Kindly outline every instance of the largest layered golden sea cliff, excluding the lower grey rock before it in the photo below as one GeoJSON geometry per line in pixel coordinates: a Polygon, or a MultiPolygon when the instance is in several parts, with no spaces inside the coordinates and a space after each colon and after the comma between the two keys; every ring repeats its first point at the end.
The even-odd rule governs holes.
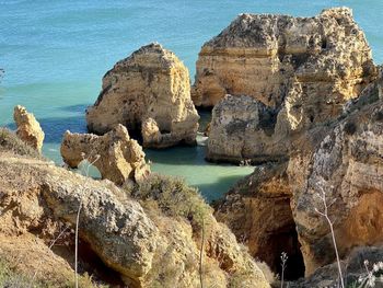
{"type": "Polygon", "coordinates": [[[251,95],[271,107],[286,101],[298,123],[324,120],[374,76],[350,9],[314,18],[241,14],[202,46],[193,100],[213,106],[225,94],[251,95]]]}

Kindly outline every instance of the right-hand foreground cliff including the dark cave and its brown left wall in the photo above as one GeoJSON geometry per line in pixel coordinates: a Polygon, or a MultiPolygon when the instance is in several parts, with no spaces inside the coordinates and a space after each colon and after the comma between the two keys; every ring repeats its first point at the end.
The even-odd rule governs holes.
{"type": "Polygon", "coordinates": [[[334,262],[328,223],[315,210],[324,209],[317,197],[323,192],[332,204],[328,216],[341,257],[353,247],[382,243],[380,81],[347,104],[338,118],[294,139],[287,162],[257,168],[218,205],[217,219],[228,223],[254,256],[272,267],[278,249],[299,257],[300,247],[306,276],[334,262]]]}

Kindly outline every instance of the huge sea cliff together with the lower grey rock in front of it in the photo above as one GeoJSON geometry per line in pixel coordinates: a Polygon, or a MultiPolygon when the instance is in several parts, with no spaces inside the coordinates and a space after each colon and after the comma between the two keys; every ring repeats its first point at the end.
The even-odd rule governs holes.
{"type": "Polygon", "coordinates": [[[315,18],[240,15],[197,62],[194,101],[214,105],[207,158],[279,159],[303,131],[337,118],[376,74],[347,8],[315,18]]]}

